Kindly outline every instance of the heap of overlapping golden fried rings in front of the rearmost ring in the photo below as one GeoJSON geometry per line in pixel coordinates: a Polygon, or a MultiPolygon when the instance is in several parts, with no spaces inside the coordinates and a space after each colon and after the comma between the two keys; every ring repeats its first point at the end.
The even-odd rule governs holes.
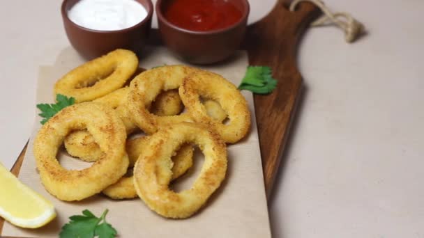
{"type": "Polygon", "coordinates": [[[61,200],[81,200],[100,191],[116,199],[139,196],[162,216],[184,218],[196,212],[224,179],[227,168],[225,142],[236,143],[248,133],[249,127],[247,103],[226,79],[187,66],[163,66],[142,72],[131,81],[129,88],[60,111],[40,129],[34,154],[44,186],[61,200]],[[176,97],[176,90],[179,97],[176,97]],[[164,99],[160,100],[161,97],[164,99]],[[177,115],[182,110],[178,106],[181,101],[176,102],[180,97],[186,112],[177,115]],[[225,125],[222,121],[227,117],[229,123],[225,125]],[[126,141],[126,135],[137,127],[152,135],[126,141]],[[116,136],[120,138],[116,140],[120,141],[119,146],[113,139],[116,136]],[[63,140],[70,154],[95,161],[93,166],[79,171],[62,168],[54,158],[63,140]],[[191,195],[174,193],[167,190],[169,182],[192,166],[190,143],[199,145],[205,154],[202,175],[190,189],[191,195]],[[121,154],[121,161],[116,159],[114,152],[121,154]],[[114,171],[114,176],[106,175],[109,170],[103,168],[104,164],[110,164],[109,170],[114,171]],[[132,178],[127,169],[133,165],[132,178]],[[149,166],[156,169],[149,169],[153,168],[149,166]],[[77,177],[91,177],[91,185],[78,192],[78,184],[86,184],[77,177]],[[100,177],[101,183],[97,182],[100,177]],[[63,189],[68,180],[74,187],[63,189]],[[153,180],[156,182],[152,184],[153,180]],[[152,199],[159,193],[167,196],[159,201],[152,199]],[[170,203],[169,196],[176,196],[185,206],[170,203]]]}

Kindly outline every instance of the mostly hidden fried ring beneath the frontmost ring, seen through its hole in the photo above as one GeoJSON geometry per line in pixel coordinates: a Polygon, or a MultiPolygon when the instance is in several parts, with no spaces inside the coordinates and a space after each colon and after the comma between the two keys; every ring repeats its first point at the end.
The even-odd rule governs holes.
{"type": "MultiPolygon", "coordinates": [[[[139,158],[140,154],[149,146],[149,136],[139,137],[127,141],[126,148],[130,158],[130,166],[139,158]]],[[[174,162],[172,166],[172,178],[183,175],[193,164],[193,148],[191,145],[183,145],[171,158],[174,162]]],[[[103,194],[112,199],[137,198],[132,175],[121,177],[121,179],[103,190],[103,194]]]]}

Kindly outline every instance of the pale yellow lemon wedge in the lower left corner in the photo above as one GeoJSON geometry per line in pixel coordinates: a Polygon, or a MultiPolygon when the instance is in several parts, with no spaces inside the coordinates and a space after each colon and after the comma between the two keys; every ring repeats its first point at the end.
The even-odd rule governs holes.
{"type": "Polygon", "coordinates": [[[53,204],[22,184],[0,163],[0,216],[22,228],[39,228],[56,217],[53,204]]]}

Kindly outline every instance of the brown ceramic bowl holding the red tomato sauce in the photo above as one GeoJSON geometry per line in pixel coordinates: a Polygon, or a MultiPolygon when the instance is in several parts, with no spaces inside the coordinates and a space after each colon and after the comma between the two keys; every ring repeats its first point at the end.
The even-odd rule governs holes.
{"type": "Polygon", "coordinates": [[[232,26],[213,31],[190,31],[167,21],[163,12],[170,1],[172,0],[156,1],[159,31],[168,49],[183,61],[195,64],[216,63],[239,49],[248,22],[248,0],[229,0],[241,10],[241,19],[232,26]]]}

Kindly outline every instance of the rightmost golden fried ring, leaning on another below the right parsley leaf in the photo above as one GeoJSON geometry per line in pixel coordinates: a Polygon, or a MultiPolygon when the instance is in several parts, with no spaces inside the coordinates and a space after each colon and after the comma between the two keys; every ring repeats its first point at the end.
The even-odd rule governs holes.
{"type": "Polygon", "coordinates": [[[240,91],[234,84],[219,74],[198,71],[190,74],[179,88],[183,104],[195,122],[211,125],[227,143],[241,140],[250,129],[250,111],[240,91]],[[229,124],[213,120],[199,98],[205,97],[218,102],[228,114],[229,124]]]}

